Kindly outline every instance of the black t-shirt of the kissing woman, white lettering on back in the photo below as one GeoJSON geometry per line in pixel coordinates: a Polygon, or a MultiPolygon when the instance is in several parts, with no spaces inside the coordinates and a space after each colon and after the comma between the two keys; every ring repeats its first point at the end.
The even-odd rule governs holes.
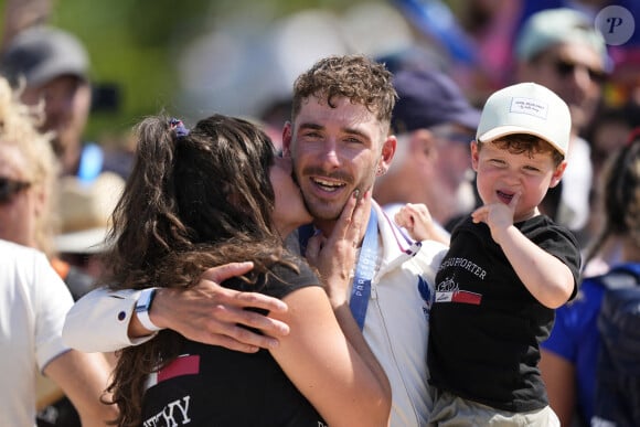
{"type": "MultiPolygon", "coordinates": [[[[299,275],[275,267],[278,278],[270,276],[259,291],[282,298],[296,289],[319,286],[306,264],[299,267],[299,275]]],[[[326,425],[266,350],[247,354],[184,340],[181,354],[149,378],[142,426],[326,425]]]]}

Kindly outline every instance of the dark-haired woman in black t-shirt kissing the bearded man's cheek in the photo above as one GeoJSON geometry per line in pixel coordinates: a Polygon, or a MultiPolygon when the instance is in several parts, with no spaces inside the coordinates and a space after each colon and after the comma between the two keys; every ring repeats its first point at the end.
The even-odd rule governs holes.
{"type": "MultiPolygon", "coordinates": [[[[222,115],[191,130],[151,117],[136,135],[136,162],[105,257],[111,274],[103,281],[118,284],[113,289],[186,288],[212,266],[249,260],[253,270],[223,286],[282,299],[288,310],[271,316],[290,333],[274,349],[242,353],[166,329],[121,350],[109,387],[117,424],[387,425],[390,384],[353,318],[340,316],[349,308],[334,312],[314,271],[285,247],[284,237],[311,216],[289,161],[276,158],[268,137],[222,115]]],[[[345,209],[342,237],[317,258],[323,282],[349,280],[362,221],[358,199],[345,209]]]]}

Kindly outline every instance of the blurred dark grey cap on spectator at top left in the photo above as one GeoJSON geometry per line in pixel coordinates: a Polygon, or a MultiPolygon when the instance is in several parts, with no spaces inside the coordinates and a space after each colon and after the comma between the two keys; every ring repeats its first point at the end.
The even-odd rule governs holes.
{"type": "Polygon", "coordinates": [[[87,79],[88,68],[88,54],[81,41],[46,25],[19,32],[0,57],[0,74],[13,86],[20,77],[24,77],[28,86],[39,86],[62,75],[87,79]]]}

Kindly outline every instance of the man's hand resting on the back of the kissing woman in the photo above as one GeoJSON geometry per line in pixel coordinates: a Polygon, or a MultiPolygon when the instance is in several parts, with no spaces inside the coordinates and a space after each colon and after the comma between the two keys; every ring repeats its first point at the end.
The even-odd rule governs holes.
{"type": "Polygon", "coordinates": [[[253,263],[226,264],[206,270],[190,289],[158,289],[151,306],[151,321],[190,340],[245,353],[277,346],[277,339],[287,335],[289,327],[245,308],[286,312],[287,305],[263,293],[239,292],[218,285],[252,268],[253,263]],[[258,329],[263,334],[241,325],[258,329]]]}

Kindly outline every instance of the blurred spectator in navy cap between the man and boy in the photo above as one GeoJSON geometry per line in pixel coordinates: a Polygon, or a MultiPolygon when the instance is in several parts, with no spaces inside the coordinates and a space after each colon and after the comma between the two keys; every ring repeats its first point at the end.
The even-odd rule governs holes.
{"type": "Polygon", "coordinates": [[[391,217],[405,203],[424,203],[444,226],[477,204],[469,143],[480,120],[456,83],[436,70],[396,72],[392,125],[394,161],[377,177],[374,199],[391,217]]]}

